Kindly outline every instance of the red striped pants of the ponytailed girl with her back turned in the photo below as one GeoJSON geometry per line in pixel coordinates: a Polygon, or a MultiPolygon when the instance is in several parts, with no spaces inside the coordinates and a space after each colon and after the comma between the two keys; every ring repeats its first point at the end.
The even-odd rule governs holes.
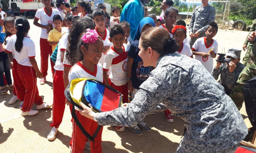
{"type": "Polygon", "coordinates": [[[27,112],[30,111],[33,103],[37,105],[43,104],[43,100],[39,96],[37,88],[37,74],[32,66],[17,64],[17,70],[19,77],[26,89],[22,111],[27,112]]]}

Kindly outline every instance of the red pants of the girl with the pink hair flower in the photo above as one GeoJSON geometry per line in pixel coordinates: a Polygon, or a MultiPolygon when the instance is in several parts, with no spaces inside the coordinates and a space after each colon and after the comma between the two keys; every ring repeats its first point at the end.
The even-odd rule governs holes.
{"type": "MultiPolygon", "coordinates": [[[[78,120],[83,125],[85,131],[87,131],[90,135],[93,135],[99,124],[94,120],[91,120],[87,117],[82,116],[79,113],[79,111],[75,110],[75,113],[78,120]]],[[[91,153],[102,153],[102,149],[101,149],[102,130],[103,130],[103,127],[100,129],[99,133],[94,139],[94,148],[93,148],[93,142],[91,141],[91,153]]],[[[73,121],[73,132],[72,132],[72,138],[70,141],[70,143],[72,143],[71,153],[83,153],[84,147],[86,144],[86,139],[87,137],[82,133],[80,128],[75,124],[75,121],[73,121]]]]}

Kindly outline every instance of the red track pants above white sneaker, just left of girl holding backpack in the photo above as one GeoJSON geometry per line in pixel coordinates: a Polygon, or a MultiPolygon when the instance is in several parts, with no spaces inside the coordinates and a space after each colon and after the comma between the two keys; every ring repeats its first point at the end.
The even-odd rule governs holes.
{"type": "Polygon", "coordinates": [[[50,126],[59,128],[62,122],[66,97],[64,94],[63,71],[56,70],[53,78],[53,118],[50,126]]]}

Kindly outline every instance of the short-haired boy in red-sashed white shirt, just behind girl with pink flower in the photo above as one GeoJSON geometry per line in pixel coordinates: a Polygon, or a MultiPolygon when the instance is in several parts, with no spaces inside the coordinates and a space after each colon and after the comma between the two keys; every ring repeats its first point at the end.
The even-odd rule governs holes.
{"type": "MultiPolygon", "coordinates": [[[[114,25],[110,31],[109,40],[113,46],[106,52],[103,64],[103,79],[105,83],[123,95],[123,103],[128,103],[127,84],[127,53],[128,49],[124,44],[125,32],[120,25],[114,25]],[[111,71],[108,76],[108,71],[111,71]]],[[[117,131],[124,131],[123,126],[116,126],[117,131]]]]}

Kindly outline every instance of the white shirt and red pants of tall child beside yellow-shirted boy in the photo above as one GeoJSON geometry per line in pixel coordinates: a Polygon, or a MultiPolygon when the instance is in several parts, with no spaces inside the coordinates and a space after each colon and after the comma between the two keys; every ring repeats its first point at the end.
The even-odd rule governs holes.
{"type": "MultiPolygon", "coordinates": [[[[47,14],[45,8],[39,8],[37,13],[35,13],[35,18],[40,19],[42,25],[53,24],[53,16],[60,15],[60,12],[57,9],[51,8],[51,14],[47,14]]],[[[62,19],[63,20],[63,19],[62,19]]],[[[41,53],[41,72],[43,73],[43,77],[46,77],[48,70],[48,57],[52,55],[52,46],[49,45],[47,30],[41,28],[41,36],[40,36],[40,53],[41,53]]],[[[54,63],[51,61],[52,73],[54,73],[54,63]]]]}

